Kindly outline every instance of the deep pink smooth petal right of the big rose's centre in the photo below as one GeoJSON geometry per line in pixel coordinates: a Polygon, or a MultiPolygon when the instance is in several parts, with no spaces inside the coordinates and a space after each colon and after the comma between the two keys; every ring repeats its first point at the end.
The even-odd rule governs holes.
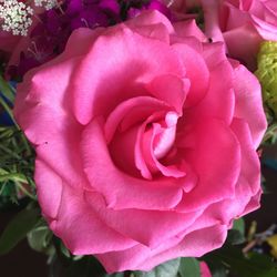
{"type": "Polygon", "coordinates": [[[177,207],[186,212],[233,197],[240,172],[240,146],[226,123],[206,117],[204,122],[199,120],[198,123],[189,124],[189,129],[185,130],[188,135],[176,138],[176,145],[184,148],[186,162],[199,177],[197,186],[184,195],[177,207]],[[194,136],[189,137],[188,132],[194,136]],[[189,142],[191,138],[195,142],[194,145],[189,142]]]}

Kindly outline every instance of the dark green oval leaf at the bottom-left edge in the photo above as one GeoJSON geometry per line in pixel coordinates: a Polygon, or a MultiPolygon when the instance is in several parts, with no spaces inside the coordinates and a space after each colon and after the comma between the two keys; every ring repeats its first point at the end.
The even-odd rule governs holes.
{"type": "Polygon", "coordinates": [[[0,255],[9,253],[40,219],[39,209],[23,209],[13,217],[0,237],[0,255]]]}

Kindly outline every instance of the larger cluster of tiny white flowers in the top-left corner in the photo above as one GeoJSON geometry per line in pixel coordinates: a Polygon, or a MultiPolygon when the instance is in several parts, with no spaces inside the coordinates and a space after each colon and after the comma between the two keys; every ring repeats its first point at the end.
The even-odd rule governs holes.
{"type": "Polygon", "coordinates": [[[17,0],[0,0],[0,28],[14,35],[27,35],[33,9],[17,0]]]}

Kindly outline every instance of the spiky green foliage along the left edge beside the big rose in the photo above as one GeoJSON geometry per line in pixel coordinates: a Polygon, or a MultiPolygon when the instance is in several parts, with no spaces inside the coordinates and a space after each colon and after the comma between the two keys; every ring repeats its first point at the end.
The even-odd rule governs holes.
{"type": "MultiPolygon", "coordinates": [[[[4,95],[0,95],[0,107],[13,120],[9,103],[14,100],[14,91],[2,76],[0,90],[4,95]]],[[[12,126],[0,125],[0,207],[9,201],[17,203],[22,196],[35,199],[33,160],[34,153],[17,123],[12,126]]]]}

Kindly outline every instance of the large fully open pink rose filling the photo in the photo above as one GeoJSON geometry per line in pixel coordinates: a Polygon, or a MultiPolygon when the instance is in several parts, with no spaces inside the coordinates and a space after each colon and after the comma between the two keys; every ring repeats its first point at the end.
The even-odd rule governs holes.
{"type": "Polygon", "coordinates": [[[259,83],[201,39],[155,11],[79,29],[18,88],[43,215],[110,273],[202,256],[259,206],[259,83]]]}

